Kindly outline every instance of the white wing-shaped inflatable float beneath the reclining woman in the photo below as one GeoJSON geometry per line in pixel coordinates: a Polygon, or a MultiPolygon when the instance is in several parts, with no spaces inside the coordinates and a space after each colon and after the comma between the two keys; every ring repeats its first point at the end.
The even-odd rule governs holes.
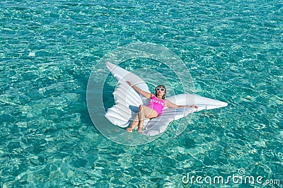
{"type": "MultiPolygon", "coordinates": [[[[139,78],[139,76],[126,71],[125,69],[116,66],[115,64],[107,63],[106,66],[110,70],[113,76],[117,78],[118,84],[114,91],[115,105],[110,107],[105,114],[105,117],[109,119],[112,124],[119,127],[128,127],[130,119],[138,111],[139,105],[147,105],[149,100],[137,93],[126,81],[131,81],[141,90],[148,93],[148,86],[139,78]]],[[[210,98],[204,98],[199,95],[193,94],[178,94],[166,98],[176,105],[197,105],[197,109],[186,108],[164,108],[161,114],[153,119],[144,120],[143,134],[146,136],[155,136],[166,131],[170,122],[176,119],[187,116],[192,112],[198,112],[200,110],[210,110],[218,107],[225,107],[228,105],[226,102],[219,100],[213,100],[210,98]]]]}

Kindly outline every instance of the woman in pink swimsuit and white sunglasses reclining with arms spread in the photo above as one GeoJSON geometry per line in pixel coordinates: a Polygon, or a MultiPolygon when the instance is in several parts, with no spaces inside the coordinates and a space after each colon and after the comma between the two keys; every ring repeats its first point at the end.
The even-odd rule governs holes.
{"type": "Polygon", "coordinates": [[[139,112],[137,113],[136,117],[134,117],[131,125],[129,128],[127,128],[128,132],[132,132],[132,130],[138,127],[137,132],[143,131],[143,125],[144,125],[144,118],[152,119],[154,117],[158,117],[158,115],[161,113],[164,107],[195,107],[196,105],[175,105],[170,100],[165,99],[166,95],[166,88],[163,85],[159,85],[155,88],[155,95],[153,93],[147,93],[144,90],[141,90],[137,86],[134,86],[131,82],[127,81],[129,86],[134,88],[138,93],[143,95],[145,98],[150,98],[149,105],[139,105],[139,112]]]}

